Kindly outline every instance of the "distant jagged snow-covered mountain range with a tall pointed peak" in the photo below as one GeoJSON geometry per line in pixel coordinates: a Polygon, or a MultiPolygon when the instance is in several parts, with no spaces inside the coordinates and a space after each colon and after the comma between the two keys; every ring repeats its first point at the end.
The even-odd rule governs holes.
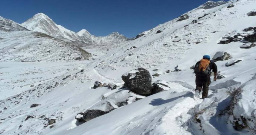
{"type": "Polygon", "coordinates": [[[104,37],[91,35],[85,29],[75,33],[61,25],[55,24],[51,18],[43,13],[35,14],[21,25],[29,30],[45,33],[58,39],[80,43],[84,42],[86,44],[104,44],[107,42],[122,42],[128,40],[128,38],[119,33],[112,33],[104,37]]]}

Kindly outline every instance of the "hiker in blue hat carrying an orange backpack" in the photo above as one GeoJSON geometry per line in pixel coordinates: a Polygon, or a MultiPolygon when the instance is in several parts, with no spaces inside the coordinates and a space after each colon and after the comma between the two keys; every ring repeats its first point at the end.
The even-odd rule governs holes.
{"type": "Polygon", "coordinates": [[[217,72],[218,72],[217,65],[213,61],[210,61],[209,55],[204,55],[203,59],[201,59],[195,64],[195,67],[194,67],[194,73],[196,74],[195,96],[199,97],[199,93],[202,91],[202,88],[203,88],[202,99],[207,98],[209,85],[211,83],[211,78],[210,78],[211,70],[214,72],[213,80],[216,81],[217,72]]]}

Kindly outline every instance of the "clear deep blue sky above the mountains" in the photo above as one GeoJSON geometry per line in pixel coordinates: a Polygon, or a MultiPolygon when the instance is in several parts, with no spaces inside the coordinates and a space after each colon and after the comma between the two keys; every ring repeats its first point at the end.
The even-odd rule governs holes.
{"type": "Polygon", "coordinates": [[[208,0],[1,0],[0,16],[23,23],[44,13],[56,24],[96,36],[119,32],[131,38],[208,0]]]}

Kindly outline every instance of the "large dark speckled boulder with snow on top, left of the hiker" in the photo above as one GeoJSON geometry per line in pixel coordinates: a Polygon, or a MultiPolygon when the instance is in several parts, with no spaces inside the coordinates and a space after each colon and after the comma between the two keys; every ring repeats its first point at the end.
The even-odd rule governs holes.
{"type": "Polygon", "coordinates": [[[134,93],[145,96],[150,95],[152,93],[152,79],[149,71],[144,68],[131,70],[123,74],[122,79],[125,82],[124,86],[128,87],[134,93]]]}

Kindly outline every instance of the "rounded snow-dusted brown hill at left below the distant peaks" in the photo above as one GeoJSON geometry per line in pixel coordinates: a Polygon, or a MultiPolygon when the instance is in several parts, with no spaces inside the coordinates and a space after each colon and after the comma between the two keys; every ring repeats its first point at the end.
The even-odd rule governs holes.
{"type": "Polygon", "coordinates": [[[85,50],[44,33],[0,33],[0,61],[76,61],[88,59],[85,50]]]}

